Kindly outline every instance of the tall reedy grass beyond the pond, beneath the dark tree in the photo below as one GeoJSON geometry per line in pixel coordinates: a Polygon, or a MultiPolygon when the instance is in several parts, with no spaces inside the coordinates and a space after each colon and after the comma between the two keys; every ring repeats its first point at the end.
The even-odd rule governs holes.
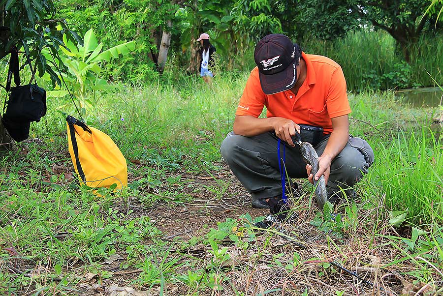
{"type": "Polygon", "coordinates": [[[329,57],[343,68],[348,89],[396,89],[435,86],[427,70],[443,81],[443,36],[422,36],[404,61],[395,40],[384,31],[352,31],[334,41],[302,44],[306,53],[329,57]]]}

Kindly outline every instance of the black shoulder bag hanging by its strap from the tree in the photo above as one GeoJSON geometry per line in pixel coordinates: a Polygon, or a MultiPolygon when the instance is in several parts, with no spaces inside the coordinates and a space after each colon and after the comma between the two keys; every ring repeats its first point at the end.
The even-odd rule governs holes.
{"type": "MultiPolygon", "coordinates": [[[[31,67],[32,82],[34,72],[28,56],[27,59],[31,67]]],[[[14,46],[11,48],[6,80],[6,92],[10,92],[4,102],[2,121],[9,135],[17,142],[28,139],[31,121],[38,122],[46,114],[46,90],[37,86],[36,82],[21,86],[19,71],[18,51],[14,46]],[[15,83],[13,88],[11,88],[12,76],[15,83]]]]}

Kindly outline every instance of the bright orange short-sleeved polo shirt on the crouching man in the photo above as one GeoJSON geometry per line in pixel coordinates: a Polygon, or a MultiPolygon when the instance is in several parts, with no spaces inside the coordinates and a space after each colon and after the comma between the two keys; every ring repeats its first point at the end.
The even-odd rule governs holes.
{"type": "Polygon", "coordinates": [[[283,117],[297,124],[323,127],[325,134],[332,132],[331,118],[351,112],[342,68],[332,59],[306,55],[307,75],[298,92],[291,90],[267,95],[258,78],[258,68],[251,71],[235,115],[260,116],[266,106],[266,116],[283,117]]]}

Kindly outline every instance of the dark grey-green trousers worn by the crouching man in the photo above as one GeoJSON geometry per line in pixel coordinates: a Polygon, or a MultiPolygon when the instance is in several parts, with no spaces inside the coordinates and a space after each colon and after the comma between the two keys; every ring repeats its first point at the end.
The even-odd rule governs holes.
{"type": "MultiPolygon", "coordinates": [[[[314,148],[320,156],[329,136],[325,136],[314,148]]],[[[285,169],[290,178],[308,178],[306,163],[296,145],[294,148],[282,141],[280,158],[278,140],[271,133],[244,137],[229,133],[221,143],[221,155],[232,173],[245,186],[253,199],[265,199],[282,194],[279,159],[283,158],[285,145],[285,169]]],[[[349,137],[348,144],[332,160],[326,185],[330,200],[342,196],[341,188],[350,196],[352,186],[368,173],[374,162],[374,152],[368,143],[360,138],[349,137]]],[[[283,168],[283,161],[282,161],[283,168]]]]}

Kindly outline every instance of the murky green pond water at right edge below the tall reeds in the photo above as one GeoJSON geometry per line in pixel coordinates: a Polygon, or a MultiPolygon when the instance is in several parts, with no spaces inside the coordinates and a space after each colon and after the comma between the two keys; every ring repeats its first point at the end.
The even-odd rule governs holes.
{"type": "Polygon", "coordinates": [[[401,89],[395,95],[402,97],[402,101],[413,107],[429,106],[437,107],[442,100],[443,91],[440,88],[401,89]]]}

